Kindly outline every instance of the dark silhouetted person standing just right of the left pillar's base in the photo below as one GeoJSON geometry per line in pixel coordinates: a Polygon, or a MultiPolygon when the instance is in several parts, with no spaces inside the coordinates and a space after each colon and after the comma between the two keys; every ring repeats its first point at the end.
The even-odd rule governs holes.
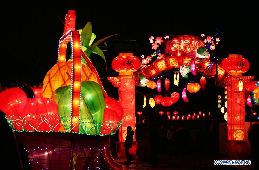
{"type": "Polygon", "coordinates": [[[158,157],[157,157],[157,147],[158,147],[158,133],[157,129],[151,125],[149,126],[150,136],[149,136],[149,143],[151,147],[151,164],[157,164],[158,163],[158,157]]]}

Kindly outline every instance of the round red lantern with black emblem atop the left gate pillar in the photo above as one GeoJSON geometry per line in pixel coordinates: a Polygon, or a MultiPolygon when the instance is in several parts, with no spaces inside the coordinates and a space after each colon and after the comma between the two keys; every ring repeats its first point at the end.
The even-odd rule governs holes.
{"type": "Polygon", "coordinates": [[[117,72],[136,71],[141,62],[136,56],[117,56],[112,61],[112,67],[117,72]]]}

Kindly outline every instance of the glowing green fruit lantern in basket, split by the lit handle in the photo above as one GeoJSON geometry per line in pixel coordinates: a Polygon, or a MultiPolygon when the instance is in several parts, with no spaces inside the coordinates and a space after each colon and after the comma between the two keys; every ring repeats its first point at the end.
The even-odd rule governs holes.
{"type": "MultiPolygon", "coordinates": [[[[71,122],[71,85],[56,89],[53,100],[58,104],[58,114],[66,131],[71,122]]],[[[102,88],[93,81],[81,85],[79,133],[98,134],[103,121],[105,100],[102,88]]]]}

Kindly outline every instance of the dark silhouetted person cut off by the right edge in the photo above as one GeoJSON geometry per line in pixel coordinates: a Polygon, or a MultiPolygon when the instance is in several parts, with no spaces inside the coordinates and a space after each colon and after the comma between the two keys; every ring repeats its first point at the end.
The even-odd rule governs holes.
{"type": "Polygon", "coordinates": [[[248,140],[254,157],[254,169],[259,169],[259,124],[255,123],[253,129],[248,132],[248,140]]]}

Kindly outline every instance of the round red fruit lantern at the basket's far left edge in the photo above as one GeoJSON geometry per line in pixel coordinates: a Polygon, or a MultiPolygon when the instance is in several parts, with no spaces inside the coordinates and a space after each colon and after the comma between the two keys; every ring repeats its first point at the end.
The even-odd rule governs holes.
{"type": "Polygon", "coordinates": [[[21,116],[22,110],[27,103],[27,96],[19,88],[6,89],[0,93],[0,110],[6,116],[21,116]]]}

